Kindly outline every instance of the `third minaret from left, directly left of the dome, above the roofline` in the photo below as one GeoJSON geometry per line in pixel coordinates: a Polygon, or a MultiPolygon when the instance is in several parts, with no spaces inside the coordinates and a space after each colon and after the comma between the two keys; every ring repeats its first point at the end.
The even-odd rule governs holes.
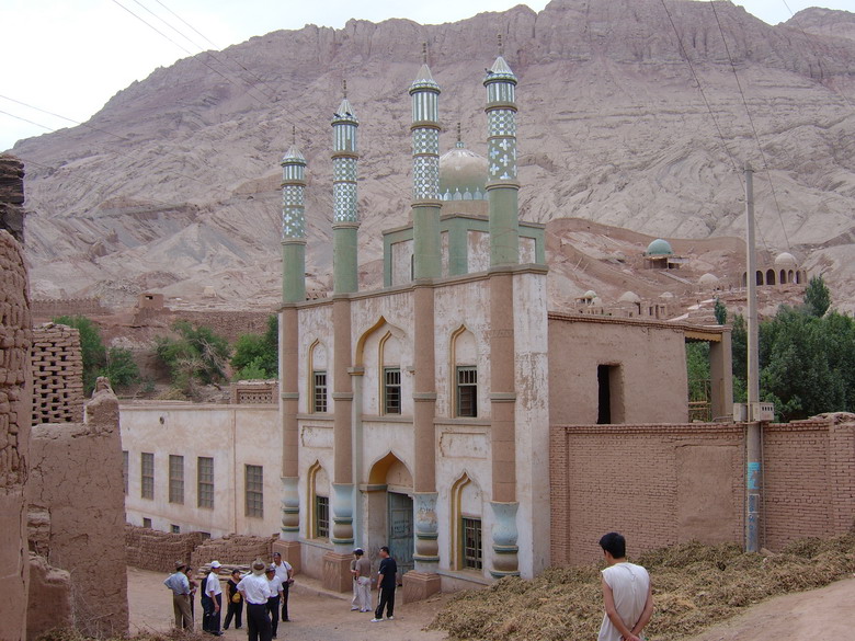
{"type": "Polygon", "coordinates": [[[428,68],[428,45],[422,45],[422,68],[410,87],[412,96],[412,227],[413,278],[442,276],[440,247],[440,85],[428,68]]]}

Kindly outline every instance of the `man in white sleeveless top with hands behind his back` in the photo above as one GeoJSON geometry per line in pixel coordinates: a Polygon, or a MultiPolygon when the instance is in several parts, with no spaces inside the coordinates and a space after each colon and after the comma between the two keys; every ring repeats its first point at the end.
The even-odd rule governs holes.
{"type": "Polygon", "coordinates": [[[608,568],[603,570],[605,616],[597,641],[643,641],[653,614],[650,575],[641,565],[626,560],[626,539],[616,531],[600,539],[608,568]]]}

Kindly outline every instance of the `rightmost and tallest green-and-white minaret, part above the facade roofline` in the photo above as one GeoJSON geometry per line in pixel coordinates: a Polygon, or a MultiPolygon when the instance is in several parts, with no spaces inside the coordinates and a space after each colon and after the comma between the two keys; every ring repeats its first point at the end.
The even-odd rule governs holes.
{"type": "Polygon", "coordinates": [[[520,262],[520,220],[516,180],[516,76],[502,57],[487,71],[488,176],[490,201],[490,264],[510,265],[520,262]]]}

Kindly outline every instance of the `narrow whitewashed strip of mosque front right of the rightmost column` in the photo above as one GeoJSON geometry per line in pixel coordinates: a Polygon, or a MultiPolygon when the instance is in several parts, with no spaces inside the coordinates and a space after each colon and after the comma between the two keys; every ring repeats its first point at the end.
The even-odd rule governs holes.
{"type": "Polygon", "coordinates": [[[516,523],[520,572],[549,564],[549,360],[546,274],[514,276],[516,523]]]}

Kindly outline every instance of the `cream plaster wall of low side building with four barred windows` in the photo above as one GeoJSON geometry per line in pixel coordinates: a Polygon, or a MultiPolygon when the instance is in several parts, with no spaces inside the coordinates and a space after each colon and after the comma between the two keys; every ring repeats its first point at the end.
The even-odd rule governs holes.
{"type": "Polygon", "coordinates": [[[128,523],[155,529],[270,536],[282,522],[282,437],[276,405],[134,403],[119,405],[129,453],[128,523]],[[162,422],[161,422],[162,420],[162,422]],[[155,455],[155,499],[140,496],[141,453],[155,455]],[[184,457],[184,503],[169,503],[169,456],[184,457]],[[214,459],[214,508],[197,507],[196,459],[214,459]],[[264,468],[264,517],[244,515],[244,465],[264,468]]]}

